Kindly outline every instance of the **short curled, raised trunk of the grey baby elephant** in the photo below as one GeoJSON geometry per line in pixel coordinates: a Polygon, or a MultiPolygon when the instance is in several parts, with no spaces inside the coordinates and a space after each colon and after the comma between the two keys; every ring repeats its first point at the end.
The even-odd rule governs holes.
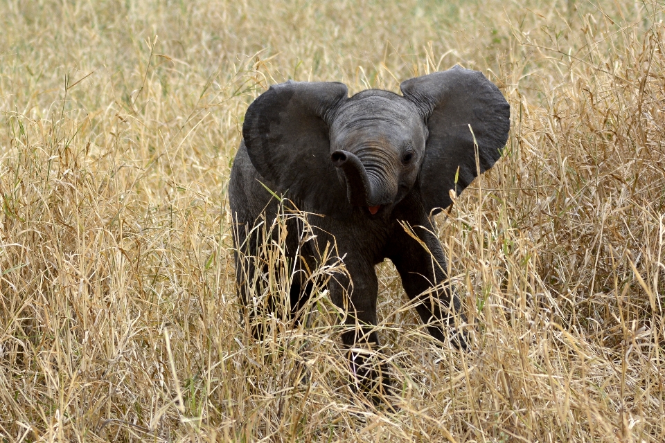
{"type": "Polygon", "coordinates": [[[355,154],[337,150],[330,155],[330,160],[335,167],[344,172],[346,179],[346,198],[353,206],[367,206],[372,214],[375,214],[382,204],[380,192],[376,192],[375,186],[369,179],[364,165],[355,154]]]}

